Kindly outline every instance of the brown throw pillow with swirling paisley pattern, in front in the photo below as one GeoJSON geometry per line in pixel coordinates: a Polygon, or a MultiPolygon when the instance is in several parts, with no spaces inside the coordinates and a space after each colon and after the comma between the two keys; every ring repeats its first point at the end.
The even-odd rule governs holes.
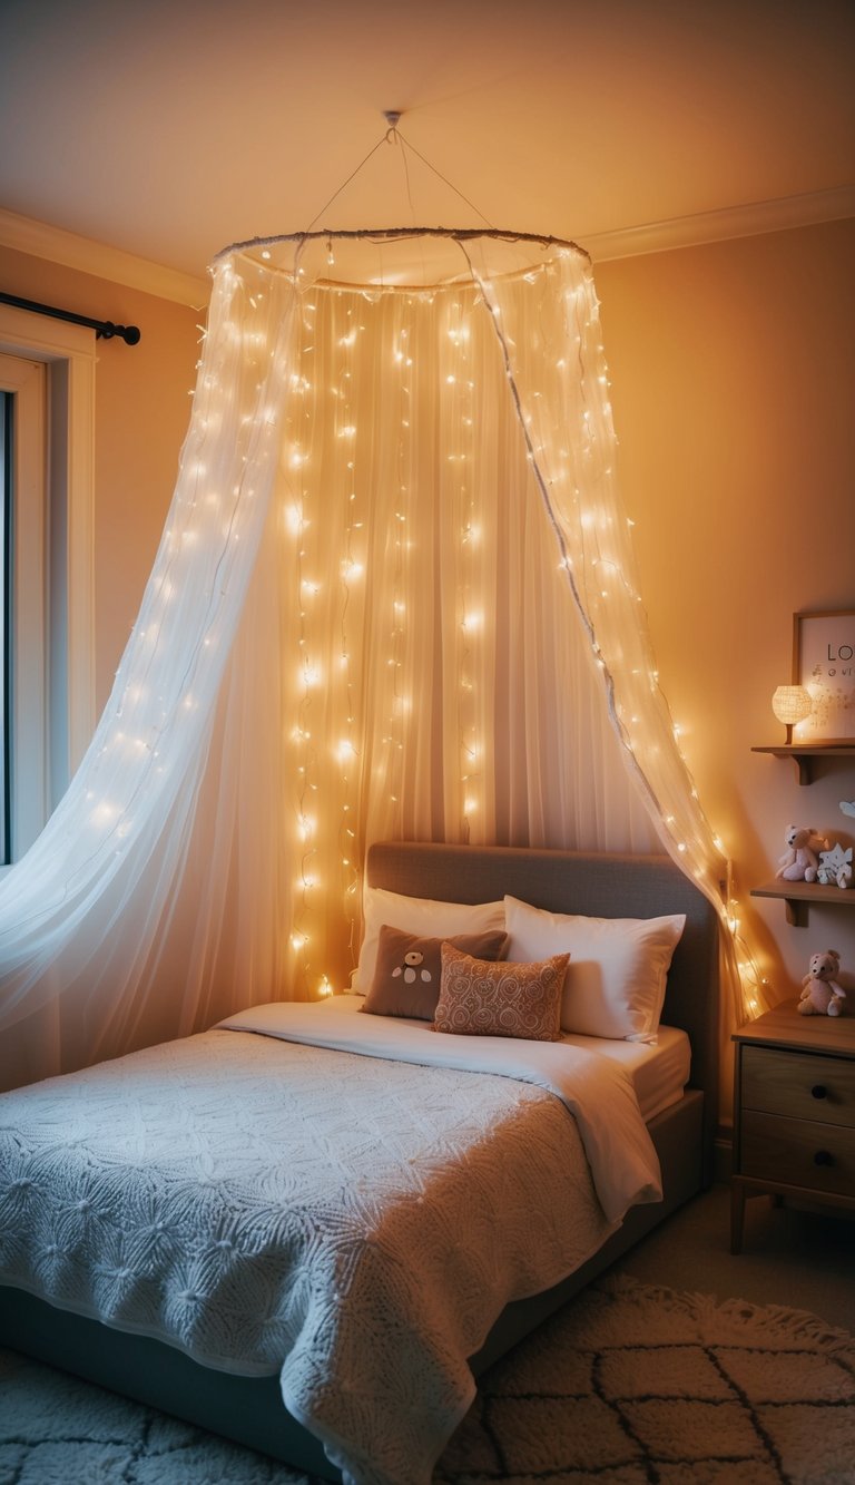
{"type": "Polygon", "coordinates": [[[485,964],[444,943],[433,1031],[560,1041],[569,961],[569,953],[557,953],[536,964],[485,964]]]}

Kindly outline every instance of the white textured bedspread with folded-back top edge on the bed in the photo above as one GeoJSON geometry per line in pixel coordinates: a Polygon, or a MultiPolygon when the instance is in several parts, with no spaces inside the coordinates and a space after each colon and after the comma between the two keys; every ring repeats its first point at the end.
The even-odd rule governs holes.
{"type": "Polygon", "coordinates": [[[658,1164],[595,1054],[343,999],[3,1094],[0,1282],[279,1374],[347,1482],[428,1485],[503,1305],[656,1200],[658,1164]]]}

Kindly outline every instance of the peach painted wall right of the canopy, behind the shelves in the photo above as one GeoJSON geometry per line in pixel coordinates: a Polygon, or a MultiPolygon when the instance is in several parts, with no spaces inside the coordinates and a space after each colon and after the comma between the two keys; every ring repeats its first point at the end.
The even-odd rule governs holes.
{"type": "MultiPolygon", "coordinates": [[[[793,762],[751,753],[784,741],[769,701],[793,613],[855,609],[854,264],[839,221],[595,267],[661,683],[741,895],[775,875],[790,821],[855,842],[855,763],[799,787],[793,762]]],[[[776,999],[816,949],[855,971],[849,898],[806,928],[748,900],[776,999]]]]}

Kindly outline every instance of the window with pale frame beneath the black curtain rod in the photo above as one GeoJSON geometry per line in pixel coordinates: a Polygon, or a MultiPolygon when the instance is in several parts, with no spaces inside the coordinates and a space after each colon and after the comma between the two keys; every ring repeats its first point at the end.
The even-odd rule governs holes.
{"type": "Polygon", "coordinates": [[[94,726],[89,331],[0,306],[0,864],[42,830],[94,726]]]}

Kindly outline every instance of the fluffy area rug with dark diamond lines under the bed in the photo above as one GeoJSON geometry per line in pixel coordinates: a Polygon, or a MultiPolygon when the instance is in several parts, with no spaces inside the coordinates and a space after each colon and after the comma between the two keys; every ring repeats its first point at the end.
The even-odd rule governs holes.
{"type": "MultiPolygon", "coordinates": [[[[436,1485],[855,1485],[855,1338],[803,1311],[588,1289],[484,1378],[436,1485]]],[[[0,1351],[0,1485],[315,1485],[0,1351]]]]}

